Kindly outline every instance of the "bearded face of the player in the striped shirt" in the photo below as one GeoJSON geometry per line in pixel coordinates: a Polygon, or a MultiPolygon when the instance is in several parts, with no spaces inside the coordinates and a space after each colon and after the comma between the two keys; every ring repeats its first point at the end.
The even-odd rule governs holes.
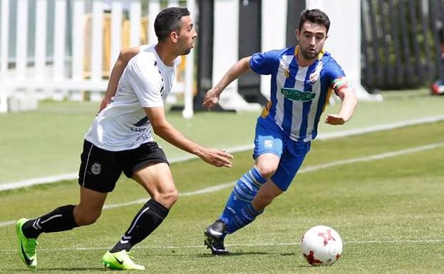
{"type": "Polygon", "coordinates": [[[306,60],[313,60],[319,55],[327,37],[325,26],[310,21],[306,21],[302,25],[301,31],[296,30],[299,48],[306,60]]]}

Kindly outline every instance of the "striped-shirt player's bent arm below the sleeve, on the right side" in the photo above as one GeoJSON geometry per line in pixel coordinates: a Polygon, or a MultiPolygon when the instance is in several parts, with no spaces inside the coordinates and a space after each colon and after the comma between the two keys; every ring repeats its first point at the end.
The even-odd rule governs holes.
{"type": "Polygon", "coordinates": [[[336,95],[342,100],[341,110],[339,110],[338,114],[327,115],[325,122],[329,125],[344,125],[353,115],[358,100],[356,100],[353,88],[350,87],[345,78],[334,80],[333,88],[336,95]]]}

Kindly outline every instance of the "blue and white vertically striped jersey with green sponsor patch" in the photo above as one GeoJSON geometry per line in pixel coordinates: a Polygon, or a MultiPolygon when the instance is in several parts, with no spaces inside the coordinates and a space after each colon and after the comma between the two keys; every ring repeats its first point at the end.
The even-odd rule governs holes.
{"type": "Polygon", "coordinates": [[[250,67],[254,72],[272,75],[270,100],[262,117],[272,120],[290,139],[309,142],[316,138],[319,118],[329,101],[334,83],[346,83],[344,70],[326,51],[313,64],[300,67],[296,60],[299,46],[254,53],[250,67]]]}

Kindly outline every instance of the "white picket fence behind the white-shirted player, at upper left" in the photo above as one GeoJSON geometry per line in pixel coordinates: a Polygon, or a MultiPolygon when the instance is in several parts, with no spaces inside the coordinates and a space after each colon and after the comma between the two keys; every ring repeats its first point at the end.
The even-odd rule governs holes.
{"type": "MultiPolygon", "coordinates": [[[[0,4],[0,112],[8,111],[11,98],[84,100],[88,90],[90,100],[100,100],[125,38],[129,40],[126,46],[140,45],[142,37],[146,43],[157,41],[153,23],[160,0],[144,1],[146,16],[141,0],[0,0],[0,4]],[[15,14],[11,13],[13,5],[15,14]],[[53,14],[53,26],[48,25],[48,11],[53,14]],[[13,19],[16,31],[11,33],[13,19]],[[35,38],[29,39],[32,32],[35,38]],[[11,58],[9,40],[13,38],[15,56],[11,58]]],[[[178,4],[168,1],[167,6],[178,4]]],[[[186,5],[195,17],[195,1],[187,0],[186,5]]],[[[193,53],[186,58],[190,61],[185,62],[183,80],[176,81],[173,93],[184,93],[183,113],[191,117],[193,53]]]]}

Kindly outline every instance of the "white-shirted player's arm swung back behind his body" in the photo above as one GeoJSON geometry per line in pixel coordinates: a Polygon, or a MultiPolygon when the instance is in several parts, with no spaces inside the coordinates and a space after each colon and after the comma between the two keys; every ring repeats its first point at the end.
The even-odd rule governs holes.
{"type": "Polygon", "coordinates": [[[120,51],[119,57],[113,66],[113,70],[111,70],[110,80],[108,81],[105,97],[103,98],[102,102],[100,102],[98,112],[102,111],[111,102],[111,98],[113,98],[117,92],[117,87],[120,77],[122,77],[123,70],[125,70],[129,60],[136,56],[139,51],[140,49],[138,46],[133,48],[124,48],[122,51],[120,51]]]}

